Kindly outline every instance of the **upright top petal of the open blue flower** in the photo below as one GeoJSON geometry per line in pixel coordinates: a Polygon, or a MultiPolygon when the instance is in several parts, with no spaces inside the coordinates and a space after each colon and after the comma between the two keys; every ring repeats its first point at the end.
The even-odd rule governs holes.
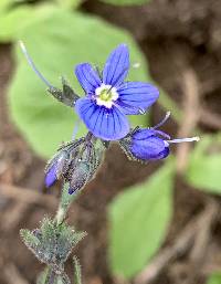
{"type": "Polygon", "coordinates": [[[129,51],[126,44],[118,45],[108,56],[103,71],[103,82],[117,86],[127,76],[129,70],[129,51]]]}

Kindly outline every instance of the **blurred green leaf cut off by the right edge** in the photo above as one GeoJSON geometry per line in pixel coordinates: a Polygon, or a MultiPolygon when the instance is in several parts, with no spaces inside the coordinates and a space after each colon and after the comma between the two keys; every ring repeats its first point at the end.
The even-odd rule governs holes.
{"type": "Polygon", "coordinates": [[[203,191],[221,194],[221,137],[201,137],[191,152],[187,181],[203,191]]]}

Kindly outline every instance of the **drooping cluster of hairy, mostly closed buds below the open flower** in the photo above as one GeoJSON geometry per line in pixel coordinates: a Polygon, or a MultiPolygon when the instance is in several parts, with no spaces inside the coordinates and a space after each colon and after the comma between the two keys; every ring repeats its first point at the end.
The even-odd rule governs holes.
{"type": "Polygon", "coordinates": [[[103,149],[94,145],[92,135],[73,140],[59,149],[49,161],[45,169],[45,185],[51,187],[56,179],[62,178],[69,183],[70,194],[81,190],[96,173],[102,162],[103,149]]]}

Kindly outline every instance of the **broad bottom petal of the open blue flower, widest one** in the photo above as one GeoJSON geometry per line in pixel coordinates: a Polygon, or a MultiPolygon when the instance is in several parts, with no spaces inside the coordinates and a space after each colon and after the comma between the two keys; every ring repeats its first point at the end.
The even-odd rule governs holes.
{"type": "Polygon", "coordinates": [[[94,136],[104,140],[117,140],[129,133],[126,116],[116,107],[98,106],[90,98],[80,98],[75,111],[94,136]]]}

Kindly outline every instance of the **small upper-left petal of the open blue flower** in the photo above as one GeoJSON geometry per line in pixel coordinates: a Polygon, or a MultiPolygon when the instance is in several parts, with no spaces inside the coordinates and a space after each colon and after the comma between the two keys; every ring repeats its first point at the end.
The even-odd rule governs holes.
{"type": "Polygon", "coordinates": [[[95,88],[102,84],[102,81],[90,63],[78,64],[75,69],[76,77],[87,94],[94,94],[95,88]]]}

